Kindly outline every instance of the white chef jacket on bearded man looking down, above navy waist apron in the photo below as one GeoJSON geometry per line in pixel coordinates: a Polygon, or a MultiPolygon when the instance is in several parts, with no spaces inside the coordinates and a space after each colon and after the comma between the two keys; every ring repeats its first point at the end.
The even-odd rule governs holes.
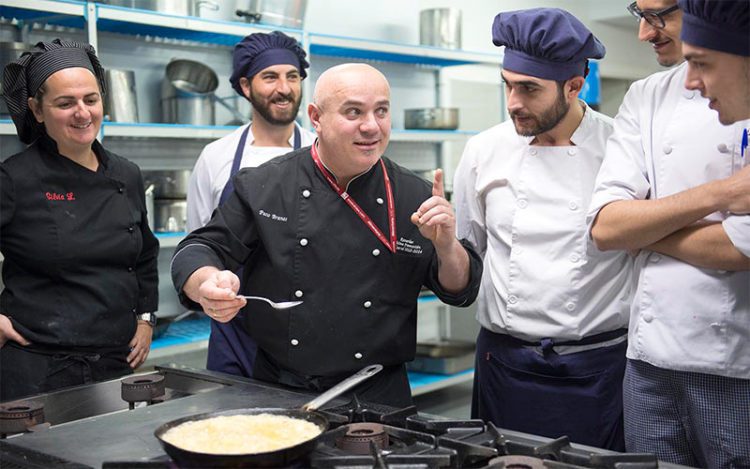
{"type": "Polygon", "coordinates": [[[477,320],[522,340],[628,322],[631,260],[587,252],[586,208],[612,119],[586,108],[573,146],[531,146],[506,121],[472,137],[453,183],[458,237],[484,259],[477,320]]]}

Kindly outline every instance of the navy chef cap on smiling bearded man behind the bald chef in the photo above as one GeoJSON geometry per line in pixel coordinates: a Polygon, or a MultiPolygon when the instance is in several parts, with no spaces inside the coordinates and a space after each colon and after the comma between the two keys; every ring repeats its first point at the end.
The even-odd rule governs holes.
{"type": "Polygon", "coordinates": [[[232,88],[241,96],[240,78],[252,78],[256,73],[272,65],[288,64],[297,67],[304,79],[305,69],[310,66],[305,60],[307,54],[299,42],[280,31],[270,34],[253,33],[245,36],[234,46],[232,55],[233,71],[229,81],[232,88]]]}

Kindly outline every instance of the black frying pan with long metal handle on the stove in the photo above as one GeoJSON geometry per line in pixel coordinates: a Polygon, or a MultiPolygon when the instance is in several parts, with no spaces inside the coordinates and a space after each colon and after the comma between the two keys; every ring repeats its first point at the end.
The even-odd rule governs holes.
{"type": "MultiPolygon", "coordinates": [[[[252,408],[252,409],[232,409],[218,412],[208,412],[204,414],[191,415],[182,417],[177,420],[172,420],[165,423],[154,431],[154,436],[161,443],[164,451],[169,457],[174,460],[179,467],[275,467],[275,466],[287,466],[294,460],[309,453],[315,448],[318,439],[328,429],[328,419],[321,413],[316,412],[322,405],[326,404],[331,399],[338,397],[344,392],[348,391],[352,387],[368,379],[374,374],[378,373],[383,369],[382,365],[370,365],[367,366],[344,381],[340,382],[336,386],[332,387],[328,391],[324,392],[320,396],[316,397],[312,401],[304,404],[299,409],[283,409],[283,408],[252,408]],[[282,415],[285,417],[297,418],[307,420],[317,425],[320,429],[320,434],[310,438],[309,440],[303,441],[294,446],[288,446],[275,451],[268,451],[265,453],[249,453],[249,454],[214,454],[214,453],[199,453],[195,451],[189,451],[178,446],[175,446],[163,439],[164,433],[170,428],[176,427],[185,422],[195,422],[208,418],[227,416],[227,415],[257,415],[257,414],[271,414],[271,415],[282,415]]],[[[251,436],[248,435],[248,438],[251,436]]]]}

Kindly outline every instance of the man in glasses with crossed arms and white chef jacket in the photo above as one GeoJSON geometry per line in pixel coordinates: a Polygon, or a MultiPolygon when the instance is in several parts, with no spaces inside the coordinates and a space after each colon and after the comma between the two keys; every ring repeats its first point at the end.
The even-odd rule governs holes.
{"type": "MultiPolygon", "coordinates": [[[[748,3],[704,7],[730,4],[745,9],[743,23],[711,34],[744,37],[735,46],[747,55],[748,3]]],[[[685,88],[676,0],[629,10],[659,63],[677,66],[626,94],[588,215],[599,249],[637,254],[626,447],[689,466],[750,467],[750,259],[739,248],[748,232],[727,229],[750,210],[750,168],[737,165],[743,126],[721,125],[710,101],[685,88]]]]}

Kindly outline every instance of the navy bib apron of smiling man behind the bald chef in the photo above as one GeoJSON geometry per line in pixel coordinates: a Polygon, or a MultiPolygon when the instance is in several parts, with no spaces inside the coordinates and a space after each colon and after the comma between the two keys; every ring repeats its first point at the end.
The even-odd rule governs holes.
{"type": "MultiPolygon", "coordinates": [[[[229,172],[229,181],[219,197],[219,205],[222,205],[234,191],[232,179],[240,169],[242,154],[245,151],[245,142],[250,130],[248,125],[242,132],[240,142],[234,152],[232,169],[229,172]]],[[[299,127],[294,126],[294,149],[299,150],[302,146],[302,136],[299,127]]],[[[238,272],[241,277],[241,272],[238,272]]],[[[241,313],[240,313],[241,314],[241,313]]],[[[232,375],[246,376],[252,378],[255,356],[258,345],[250,338],[240,324],[240,315],[227,323],[211,320],[211,337],[208,341],[208,359],[206,368],[212,371],[221,371],[232,375]]]]}

